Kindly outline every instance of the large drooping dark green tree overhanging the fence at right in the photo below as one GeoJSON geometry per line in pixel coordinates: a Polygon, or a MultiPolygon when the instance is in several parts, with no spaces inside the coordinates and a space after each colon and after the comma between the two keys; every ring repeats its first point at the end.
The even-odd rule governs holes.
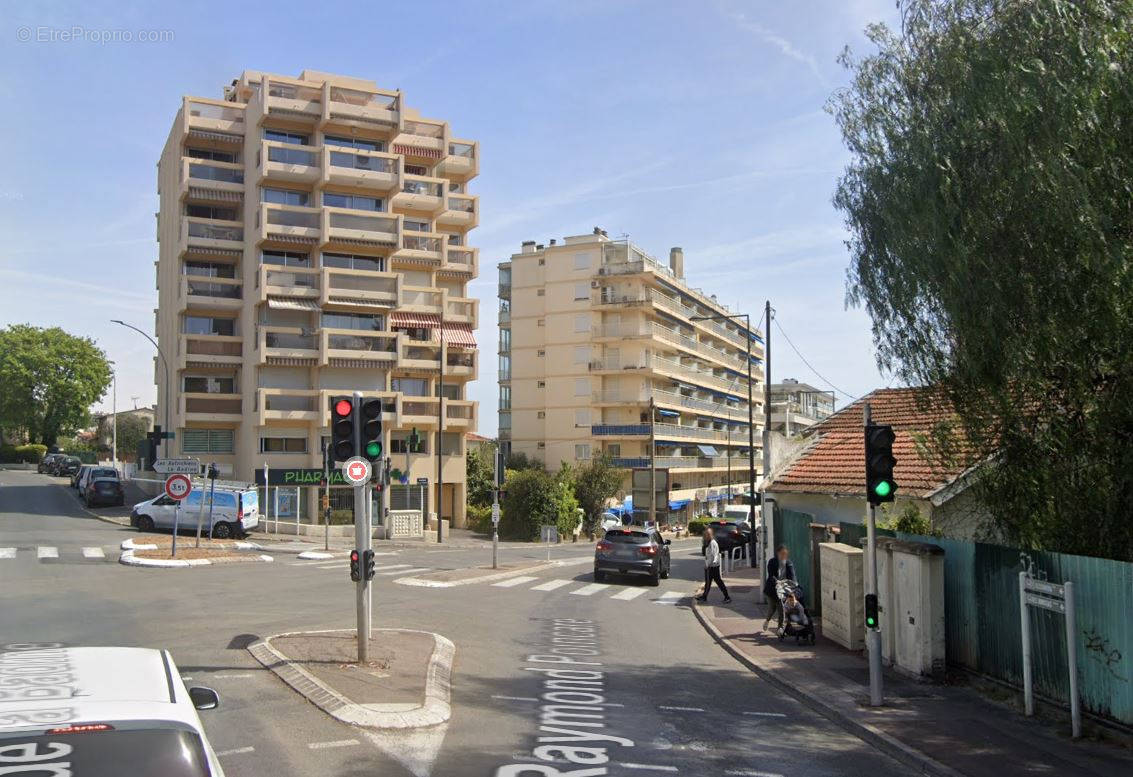
{"type": "Polygon", "coordinates": [[[900,6],[829,103],[847,301],[1000,536],[1133,560],[1133,0],[900,6]]]}

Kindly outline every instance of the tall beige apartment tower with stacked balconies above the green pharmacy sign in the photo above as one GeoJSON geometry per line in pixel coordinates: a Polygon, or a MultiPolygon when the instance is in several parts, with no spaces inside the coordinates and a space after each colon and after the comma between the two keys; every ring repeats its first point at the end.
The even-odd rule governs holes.
{"type": "MultiPolygon", "coordinates": [[[[461,524],[477,172],[476,142],[369,80],[248,70],[222,100],[185,97],[157,165],[169,394],[160,365],[155,382],[171,453],[245,481],[265,464],[321,468],[330,398],[377,394],[399,468],[407,434],[423,437],[408,456],[415,485],[391,489],[393,506],[417,507],[416,479],[436,483],[440,446],[442,514],[461,524]]],[[[314,492],[279,489],[266,509],[310,520],[314,492]]]]}

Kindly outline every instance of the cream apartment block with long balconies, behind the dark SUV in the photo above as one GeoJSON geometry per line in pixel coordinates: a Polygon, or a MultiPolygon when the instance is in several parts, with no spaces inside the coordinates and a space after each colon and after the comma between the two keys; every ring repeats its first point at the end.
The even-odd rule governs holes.
{"type": "Polygon", "coordinates": [[[670,472],[671,520],[747,493],[747,350],[758,475],[764,341],[742,321],[698,318],[733,311],[685,282],[680,248],[666,266],[595,229],[525,242],[499,267],[505,451],[551,468],[600,452],[647,468],[651,435],[655,466],[670,472]]]}

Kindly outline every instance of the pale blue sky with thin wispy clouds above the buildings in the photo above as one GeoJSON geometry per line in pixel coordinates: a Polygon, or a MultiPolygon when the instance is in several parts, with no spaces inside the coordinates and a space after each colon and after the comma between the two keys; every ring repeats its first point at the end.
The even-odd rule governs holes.
{"type": "Polygon", "coordinates": [[[824,110],[872,22],[896,22],[894,0],[0,0],[0,326],[94,339],[119,409],[153,403],[153,347],[110,319],[153,333],[155,165],[181,96],[312,69],[401,88],[480,143],[482,434],[496,263],[594,227],[663,261],[683,247],[689,282],[753,319],[769,299],[773,382],[841,405],[889,384],[868,316],[845,306],[830,198],[849,155],[824,110]]]}

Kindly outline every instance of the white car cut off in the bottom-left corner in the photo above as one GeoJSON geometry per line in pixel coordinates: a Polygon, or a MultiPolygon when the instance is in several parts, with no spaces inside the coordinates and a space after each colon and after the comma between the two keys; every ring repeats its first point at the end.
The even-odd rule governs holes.
{"type": "Polygon", "coordinates": [[[186,688],[168,650],[51,648],[19,661],[37,667],[24,683],[32,691],[41,677],[66,678],[43,688],[66,689],[67,703],[28,701],[25,675],[11,678],[0,697],[0,772],[224,777],[197,715],[220,697],[186,688]]]}

